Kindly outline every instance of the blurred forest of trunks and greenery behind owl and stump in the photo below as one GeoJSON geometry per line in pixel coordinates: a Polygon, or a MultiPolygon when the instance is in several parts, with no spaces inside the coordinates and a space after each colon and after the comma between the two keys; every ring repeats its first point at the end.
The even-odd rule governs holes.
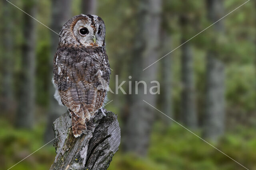
{"type": "MultiPolygon", "coordinates": [[[[10,2],[57,33],[81,13],[104,20],[106,109],[121,127],[110,170],[256,169],[255,0],[10,2]],[[140,80],[147,92],[158,81],[160,94],[144,95],[143,84],[135,94],[140,80]],[[127,94],[116,91],[122,81],[127,94]]],[[[66,111],[51,82],[58,35],[14,5],[0,2],[0,169],[54,139],[52,122],[66,111]]],[[[45,170],[55,155],[49,143],[12,169],[45,170]]]]}

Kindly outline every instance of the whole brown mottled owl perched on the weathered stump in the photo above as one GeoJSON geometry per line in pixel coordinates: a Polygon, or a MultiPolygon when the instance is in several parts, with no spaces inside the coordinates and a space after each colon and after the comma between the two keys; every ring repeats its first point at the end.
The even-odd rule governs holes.
{"type": "Polygon", "coordinates": [[[110,65],[105,49],[104,21],[80,14],[60,30],[54,56],[54,97],[68,108],[72,132],[79,137],[88,121],[101,109],[109,86],[110,65]]]}

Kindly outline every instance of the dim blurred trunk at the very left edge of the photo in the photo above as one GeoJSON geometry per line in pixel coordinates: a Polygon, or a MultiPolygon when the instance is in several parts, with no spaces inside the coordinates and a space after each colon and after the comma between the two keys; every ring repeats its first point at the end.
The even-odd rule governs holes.
{"type": "Polygon", "coordinates": [[[13,109],[14,105],[14,93],[13,93],[13,22],[11,20],[12,10],[11,4],[7,1],[3,1],[3,32],[2,32],[2,46],[3,46],[3,82],[2,82],[2,94],[1,94],[1,112],[7,113],[13,109]]]}

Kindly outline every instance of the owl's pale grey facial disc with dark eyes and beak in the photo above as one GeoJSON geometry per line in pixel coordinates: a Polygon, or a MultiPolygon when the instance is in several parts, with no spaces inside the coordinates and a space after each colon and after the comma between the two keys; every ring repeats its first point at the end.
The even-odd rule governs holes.
{"type": "Polygon", "coordinates": [[[98,16],[84,16],[76,22],[73,33],[83,46],[102,46],[105,39],[104,23],[98,16]]]}

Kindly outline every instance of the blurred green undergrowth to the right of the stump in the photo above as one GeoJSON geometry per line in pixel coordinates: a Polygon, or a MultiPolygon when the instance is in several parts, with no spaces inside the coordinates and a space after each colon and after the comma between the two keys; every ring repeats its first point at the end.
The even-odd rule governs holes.
{"type": "MultiPolygon", "coordinates": [[[[200,136],[200,132],[196,132],[200,136]]],[[[219,143],[212,144],[249,169],[255,169],[256,137],[254,129],[237,128],[219,143]]],[[[214,149],[186,129],[174,124],[165,127],[156,123],[146,158],[118,151],[110,170],[234,170],[242,166],[214,149]]]]}

